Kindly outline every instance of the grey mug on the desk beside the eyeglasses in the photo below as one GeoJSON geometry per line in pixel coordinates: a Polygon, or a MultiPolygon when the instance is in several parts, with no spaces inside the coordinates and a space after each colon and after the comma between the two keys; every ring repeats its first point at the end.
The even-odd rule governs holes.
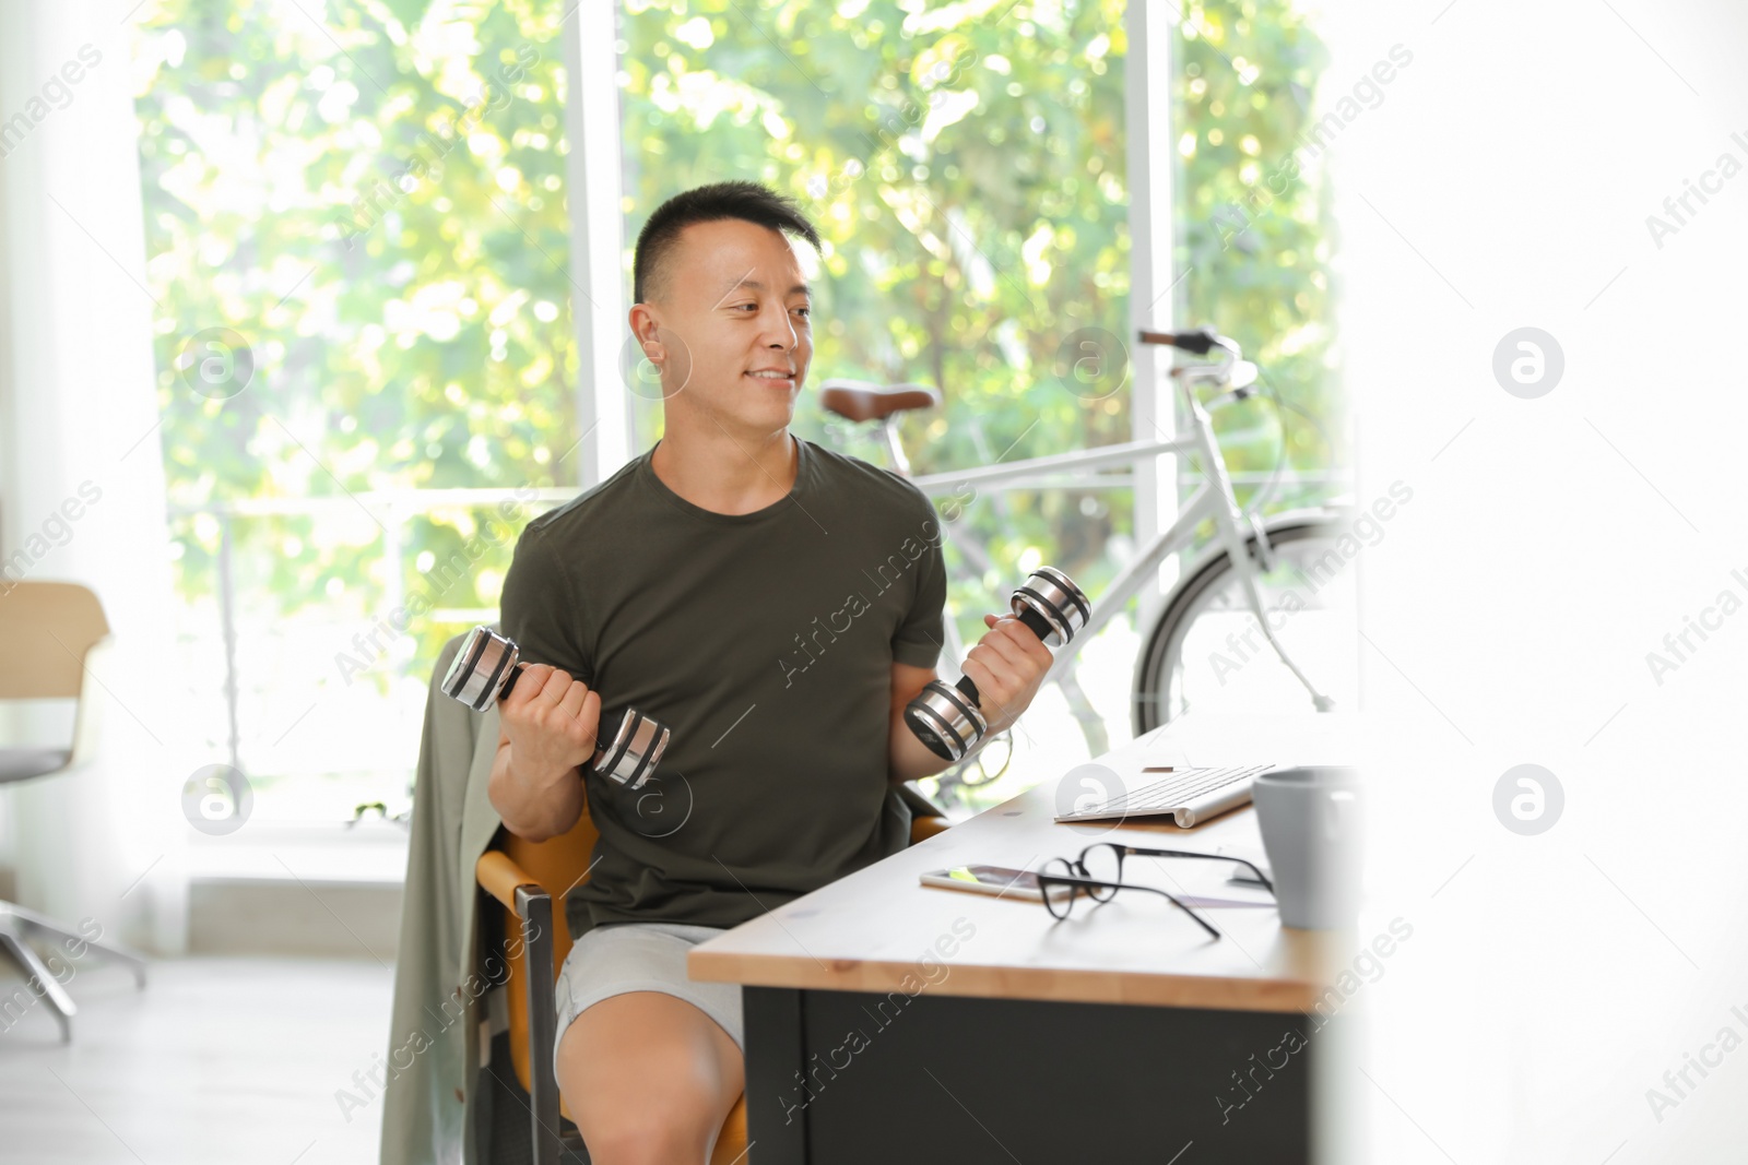
{"type": "Polygon", "coordinates": [[[1252,784],[1281,926],[1353,926],[1360,906],[1358,793],[1360,774],[1335,767],[1280,769],[1252,784]]]}

